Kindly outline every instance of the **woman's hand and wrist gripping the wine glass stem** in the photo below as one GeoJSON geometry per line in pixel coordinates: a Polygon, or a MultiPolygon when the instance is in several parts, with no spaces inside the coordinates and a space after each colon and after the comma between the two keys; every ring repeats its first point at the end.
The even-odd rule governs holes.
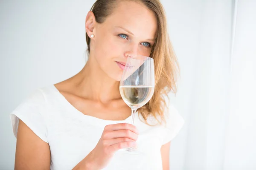
{"type": "Polygon", "coordinates": [[[122,148],[137,147],[138,130],[134,125],[119,123],[105,126],[96,147],[85,157],[88,169],[100,170],[107,166],[113,154],[122,148]]]}

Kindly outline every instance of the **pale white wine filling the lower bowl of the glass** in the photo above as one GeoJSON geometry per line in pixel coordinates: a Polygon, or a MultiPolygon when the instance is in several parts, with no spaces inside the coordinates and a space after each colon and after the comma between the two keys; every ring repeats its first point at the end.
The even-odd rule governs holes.
{"type": "Polygon", "coordinates": [[[122,85],[119,90],[125,103],[134,109],[145,105],[154,94],[154,86],[122,85]]]}

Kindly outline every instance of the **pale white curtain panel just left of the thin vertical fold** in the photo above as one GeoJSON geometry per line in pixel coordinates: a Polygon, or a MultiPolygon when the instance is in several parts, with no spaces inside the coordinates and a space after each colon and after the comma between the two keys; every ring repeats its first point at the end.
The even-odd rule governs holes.
{"type": "Polygon", "coordinates": [[[228,111],[231,2],[208,0],[203,3],[185,170],[221,170],[228,111]]]}

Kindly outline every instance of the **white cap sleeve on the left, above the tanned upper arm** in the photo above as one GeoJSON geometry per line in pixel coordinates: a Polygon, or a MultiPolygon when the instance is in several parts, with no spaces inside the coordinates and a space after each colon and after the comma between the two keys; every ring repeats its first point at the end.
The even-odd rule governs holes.
{"type": "Polygon", "coordinates": [[[10,114],[12,130],[15,137],[17,138],[19,121],[22,120],[39,138],[48,143],[47,127],[42,116],[45,110],[44,94],[38,88],[10,114]]]}

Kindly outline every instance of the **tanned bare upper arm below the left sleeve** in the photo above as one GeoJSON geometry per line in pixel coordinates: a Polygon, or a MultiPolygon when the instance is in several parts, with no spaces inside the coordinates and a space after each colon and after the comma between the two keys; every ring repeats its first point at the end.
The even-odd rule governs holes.
{"type": "Polygon", "coordinates": [[[50,148],[24,122],[19,121],[15,170],[49,170],[50,148]]]}

